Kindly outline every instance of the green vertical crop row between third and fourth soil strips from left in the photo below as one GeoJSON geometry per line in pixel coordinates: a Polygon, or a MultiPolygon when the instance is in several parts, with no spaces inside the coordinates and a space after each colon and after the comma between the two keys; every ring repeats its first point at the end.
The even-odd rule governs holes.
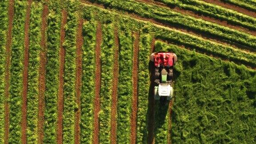
{"type": "Polygon", "coordinates": [[[47,63],[45,75],[44,143],[56,143],[57,101],[59,88],[59,52],[61,12],[58,0],[49,1],[47,27],[47,63]]]}

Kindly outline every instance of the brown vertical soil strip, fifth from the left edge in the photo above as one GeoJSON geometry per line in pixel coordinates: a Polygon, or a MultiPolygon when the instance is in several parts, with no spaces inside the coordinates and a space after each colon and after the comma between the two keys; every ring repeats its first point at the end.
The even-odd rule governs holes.
{"type": "Polygon", "coordinates": [[[75,144],[80,144],[80,117],[81,117],[81,86],[82,86],[82,46],[84,43],[82,36],[83,19],[79,19],[78,29],[76,33],[76,104],[78,110],[75,117],[75,144]]]}

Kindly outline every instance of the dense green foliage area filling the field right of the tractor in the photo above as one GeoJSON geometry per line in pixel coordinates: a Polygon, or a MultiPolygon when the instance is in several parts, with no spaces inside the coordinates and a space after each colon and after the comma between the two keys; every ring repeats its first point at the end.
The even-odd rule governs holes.
{"type": "Polygon", "coordinates": [[[255,142],[256,72],[156,43],[179,58],[174,71],[172,142],[255,142]]]}

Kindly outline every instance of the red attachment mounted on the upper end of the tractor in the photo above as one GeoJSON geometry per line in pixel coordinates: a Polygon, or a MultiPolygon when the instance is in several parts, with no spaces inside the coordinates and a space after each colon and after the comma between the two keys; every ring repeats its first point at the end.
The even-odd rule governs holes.
{"type": "Polygon", "coordinates": [[[150,56],[150,60],[154,62],[157,68],[160,66],[170,68],[174,63],[176,63],[177,56],[175,53],[171,52],[154,52],[150,56]]]}

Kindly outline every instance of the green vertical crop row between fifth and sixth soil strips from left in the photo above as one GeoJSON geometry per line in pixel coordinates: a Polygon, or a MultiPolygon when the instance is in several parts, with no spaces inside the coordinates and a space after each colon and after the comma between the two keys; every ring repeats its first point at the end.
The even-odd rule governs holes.
{"type": "Polygon", "coordinates": [[[93,101],[95,97],[96,68],[96,22],[87,21],[83,25],[84,45],[82,47],[82,88],[81,88],[81,143],[92,142],[93,101]]]}

